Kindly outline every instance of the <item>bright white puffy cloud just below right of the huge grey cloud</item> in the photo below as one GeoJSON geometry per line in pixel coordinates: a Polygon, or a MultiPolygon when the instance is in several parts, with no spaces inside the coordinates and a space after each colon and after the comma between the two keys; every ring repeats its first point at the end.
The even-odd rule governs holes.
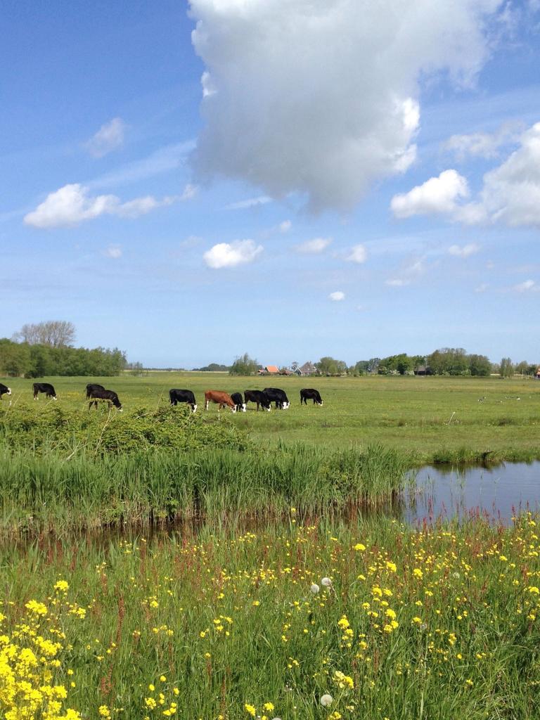
{"type": "Polygon", "coordinates": [[[394,195],[390,207],[395,217],[451,214],[456,210],[456,200],[467,197],[467,180],[456,170],[444,170],[436,178],[426,180],[409,192],[394,195]]]}

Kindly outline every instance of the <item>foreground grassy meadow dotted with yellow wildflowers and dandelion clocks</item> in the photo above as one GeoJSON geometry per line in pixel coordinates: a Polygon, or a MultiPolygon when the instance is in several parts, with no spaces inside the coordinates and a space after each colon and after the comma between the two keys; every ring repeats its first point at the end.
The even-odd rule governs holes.
{"type": "Polygon", "coordinates": [[[534,516],[4,545],[6,720],[538,718],[534,516]]]}

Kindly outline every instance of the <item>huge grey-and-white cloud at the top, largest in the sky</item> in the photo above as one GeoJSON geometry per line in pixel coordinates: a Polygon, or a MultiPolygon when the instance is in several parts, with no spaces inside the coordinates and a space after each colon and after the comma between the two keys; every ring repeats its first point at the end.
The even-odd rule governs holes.
{"type": "Polygon", "coordinates": [[[420,81],[471,84],[501,0],[190,0],[203,179],[347,210],[415,160],[420,81]]]}

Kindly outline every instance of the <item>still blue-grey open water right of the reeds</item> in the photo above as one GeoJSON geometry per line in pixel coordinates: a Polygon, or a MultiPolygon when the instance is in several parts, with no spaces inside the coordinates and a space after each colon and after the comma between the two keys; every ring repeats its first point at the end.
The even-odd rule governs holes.
{"type": "Polygon", "coordinates": [[[540,462],[495,467],[423,467],[407,493],[402,518],[410,523],[481,515],[510,523],[513,515],[540,510],[540,462]]]}

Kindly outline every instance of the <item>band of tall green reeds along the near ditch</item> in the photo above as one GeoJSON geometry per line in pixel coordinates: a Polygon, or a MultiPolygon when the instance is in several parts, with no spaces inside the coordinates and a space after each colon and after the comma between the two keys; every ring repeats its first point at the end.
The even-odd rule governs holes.
{"type": "Polygon", "coordinates": [[[66,531],[203,517],[331,513],[395,498],[406,464],[395,451],[220,447],[88,456],[0,449],[0,533],[66,531]]]}

